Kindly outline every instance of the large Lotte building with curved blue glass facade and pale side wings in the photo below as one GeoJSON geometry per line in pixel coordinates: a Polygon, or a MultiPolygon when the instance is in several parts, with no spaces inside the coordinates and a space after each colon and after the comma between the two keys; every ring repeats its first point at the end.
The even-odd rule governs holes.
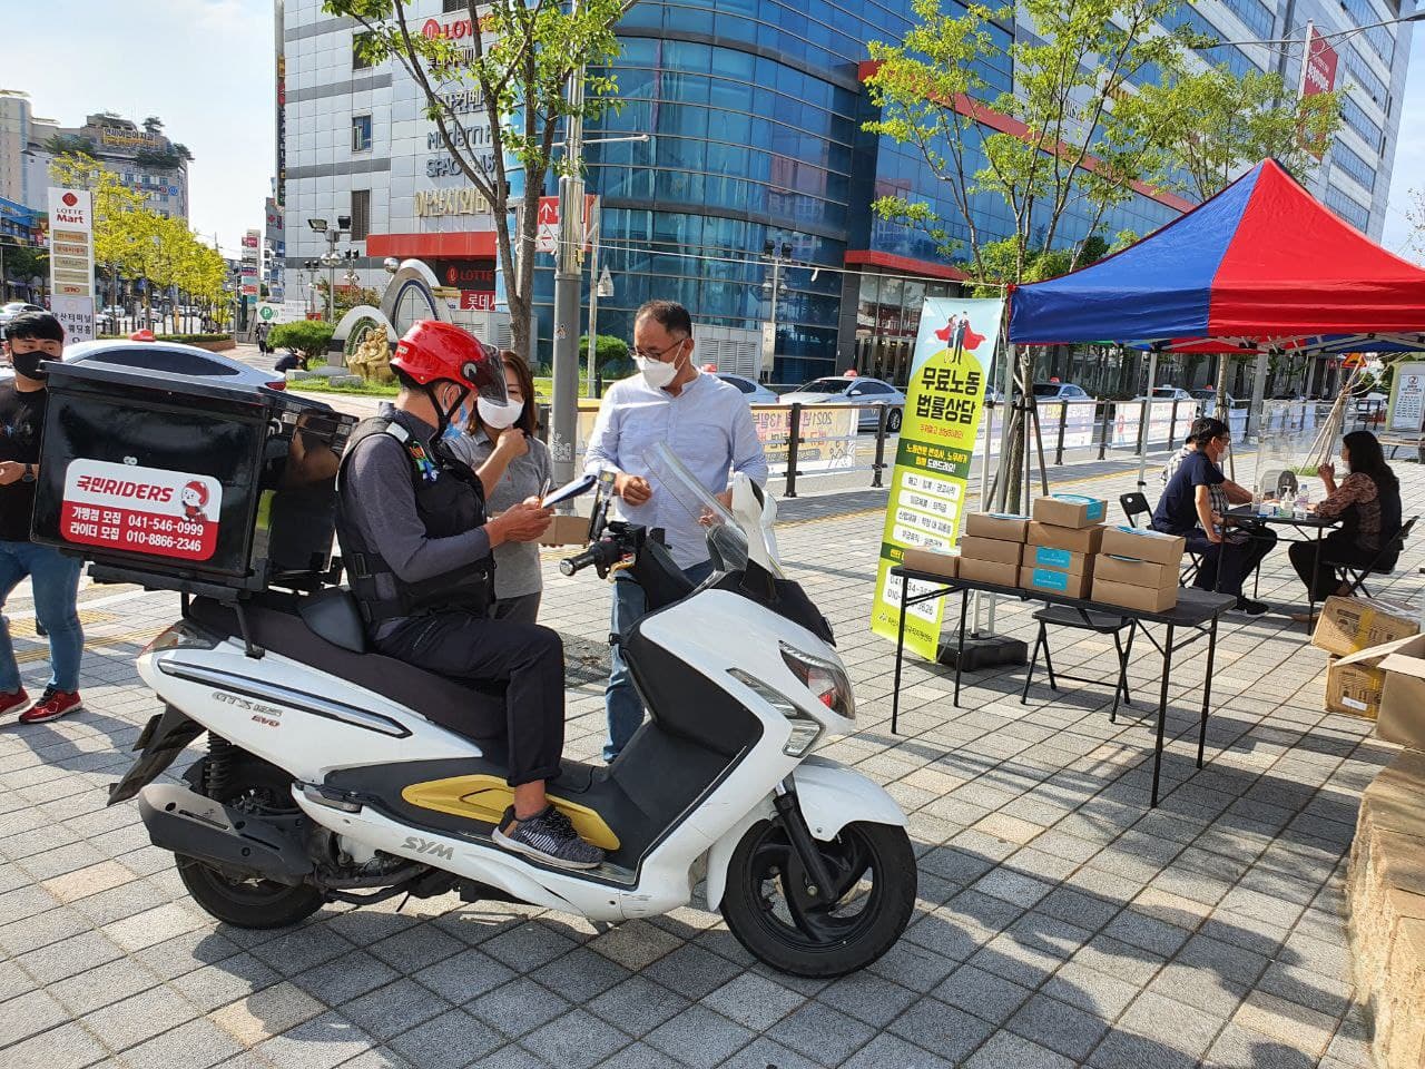
{"type": "MultiPolygon", "coordinates": [[[[299,108],[294,123],[288,107],[286,137],[296,144],[296,198],[304,207],[288,218],[301,220],[309,202],[321,214],[326,200],[341,211],[341,187],[361,184],[370,187],[363,198],[376,239],[370,249],[425,255],[426,247],[439,247],[430,255],[439,255],[442,269],[457,268],[462,257],[493,267],[493,235],[476,234],[493,229],[487,220],[476,214],[433,221],[403,207],[410,197],[402,191],[402,182],[412,181],[403,177],[408,172],[418,187],[460,181],[440,167],[432,170],[430,160],[403,158],[435,158],[439,145],[429,131],[416,128],[408,144],[395,138],[396,125],[388,137],[378,123],[365,158],[345,160],[346,124],[356,111],[379,111],[380,100],[372,108],[352,97],[343,111],[341,80],[351,80],[356,94],[370,83],[379,95],[382,78],[390,86],[403,73],[390,63],[345,70],[352,27],[326,19],[318,0],[286,0],[285,7],[288,76],[299,108]],[[331,68],[315,77],[301,70],[308,66],[304,57],[322,48],[315,54],[326,56],[331,68]],[[316,145],[302,141],[309,120],[319,124],[316,145]],[[333,143],[329,162],[332,150],[323,145],[333,143]],[[383,168],[390,174],[389,192],[378,188],[388,181],[383,168]],[[425,232],[436,227],[446,232],[425,232]],[[462,237],[465,231],[470,234],[462,237]]],[[[463,3],[430,0],[429,7],[433,19],[450,19],[443,11],[463,3]]],[[[1194,0],[1184,1],[1174,19],[1224,41],[1250,41],[1304,34],[1307,16],[1300,13],[1307,9],[1327,33],[1395,17],[1382,0],[1351,0],[1351,9],[1342,4],[1340,11],[1324,0],[1194,0]],[[1288,10],[1297,14],[1288,17],[1288,10]]],[[[628,338],[634,309],[664,296],[685,304],[700,324],[747,332],[774,325],[775,359],[762,366],[771,382],[795,383],[852,366],[903,382],[923,298],[959,292],[962,275],[925,235],[874,218],[871,204],[898,192],[931,202],[952,232],[963,228],[913,150],[862,130],[875,118],[862,90],[866,41],[896,41],[909,26],[908,0],[640,0],[631,7],[620,24],[623,51],[610,68],[623,105],[586,131],[591,141],[648,135],[590,144],[586,151],[589,191],[603,201],[600,267],[614,284],[614,295],[600,299],[598,332],[628,338]]],[[[1007,47],[1012,34],[1025,37],[1029,30],[1006,23],[995,33],[1007,47]]],[[[1338,84],[1348,88],[1345,128],[1312,191],[1352,225],[1378,235],[1399,120],[1392,100],[1404,84],[1409,43],[1408,27],[1387,27],[1385,38],[1368,33],[1342,46],[1338,84]],[[1382,61],[1381,48],[1394,61],[1382,61]]],[[[1295,84],[1298,67],[1280,51],[1247,46],[1203,56],[1240,71],[1280,70],[1295,84]]],[[[1009,88],[1009,58],[998,64],[982,74],[993,88],[1009,88]]],[[[398,100],[403,95],[398,86],[392,91],[398,100]]],[[[419,127],[419,111],[406,118],[419,127]]],[[[415,195],[419,201],[419,190],[415,195]]],[[[1147,234],[1184,207],[1173,197],[1136,195],[1097,229],[1107,239],[1121,231],[1147,234]]],[[[979,197],[973,211],[982,234],[1009,232],[998,198],[979,197]]],[[[1059,239],[1080,241],[1087,228],[1087,220],[1070,217],[1059,239]]],[[[379,259],[369,257],[362,267],[379,268],[379,259]]],[[[537,359],[547,362],[553,334],[547,258],[536,272],[534,299],[537,359]]]]}

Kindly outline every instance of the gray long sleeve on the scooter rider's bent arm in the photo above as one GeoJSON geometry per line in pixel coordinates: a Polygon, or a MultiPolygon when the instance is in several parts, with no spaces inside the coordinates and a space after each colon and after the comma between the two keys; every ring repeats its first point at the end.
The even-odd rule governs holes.
{"type": "Polygon", "coordinates": [[[342,473],[342,495],[366,544],[408,583],[473,564],[490,552],[484,527],[426,537],[410,490],[410,459],[395,438],[380,435],[362,443],[342,473]]]}

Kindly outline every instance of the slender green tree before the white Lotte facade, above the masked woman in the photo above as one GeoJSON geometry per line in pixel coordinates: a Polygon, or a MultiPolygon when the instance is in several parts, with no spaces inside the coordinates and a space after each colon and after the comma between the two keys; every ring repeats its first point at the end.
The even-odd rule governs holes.
{"type": "MultiPolygon", "coordinates": [[[[570,78],[584,66],[618,54],[614,24],[633,0],[586,0],[577,10],[554,0],[475,0],[465,9],[469,31],[426,36],[426,19],[410,0],[323,0],[322,9],[362,26],[358,48],[369,63],[393,58],[415,78],[445,151],[476,192],[490,204],[500,269],[510,305],[513,346],[530,358],[529,322],[534,286],[534,235],[539,198],[551,172],[573,161],[556,158],[554,140],[566,115],[597,118],[616,105],[611,76],[591,76],[584,98],[569,103],[570,78]],[[479,94],[489,143],[472,145],[450,97],[479,94]],[[512,168],[523,171],[523,191],[512,194],[512,168]],[[510,229],[510,212],[517,229],[510,229]],[[517,254],[517,249],[520,251],[517,254]]],[[[433,21],[433,20],[432,20],[433,21]]],[[[437,23],[439,26],[439,23],[437,23]]]]}

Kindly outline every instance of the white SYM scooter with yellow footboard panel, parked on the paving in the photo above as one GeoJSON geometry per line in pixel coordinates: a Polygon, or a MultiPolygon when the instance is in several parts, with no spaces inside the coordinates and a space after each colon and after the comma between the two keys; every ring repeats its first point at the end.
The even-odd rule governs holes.
{"type": "MultiPolygon", "coordinates": [[[[675,468],[674,462],[674,468],[675,468]]],[[[879,785],[812,755],[854,730],[831,630],[787,580],[768,537],[775,503],[738,480],[728,513],[685,472],[722,570],[697,589],[643,527],[610,522],[600,485],[591,544],[561,564],[627,572],[650,613],[623,637],[648,721],[610,767],[564,761],[550,798],[607,851],[569,871],[490,840],[510,801],[500,740],[460,733],[484,687],[368,650],[343,590],[185,597],[138,657],[165,703],[111,788],[138,795],[152,842],[192,897],[245,928],[295,924],[323,902],[459,891],[618,922],[687,905],[705,879],[747,949],[802,976],[836,976],[901,936],[916,894],[906,818],[879,785]],[[187,785],[152,783],[190,743],[187,785]]],[[[627,580],[624,580],[627,582],[627,580]]]]}

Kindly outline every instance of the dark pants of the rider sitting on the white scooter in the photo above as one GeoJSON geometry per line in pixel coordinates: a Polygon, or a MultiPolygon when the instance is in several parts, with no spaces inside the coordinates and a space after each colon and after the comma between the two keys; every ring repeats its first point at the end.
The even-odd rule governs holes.
{"type": "Polygon", "coordinates": [[[502,721],[476,723],[470,734],[504,735],[509,784],[553,780],[564,750],[564,644],[539,624],[437,613],[396,624],[376,639],[388,657],[450,678],[507,681],[502,721]]]}

